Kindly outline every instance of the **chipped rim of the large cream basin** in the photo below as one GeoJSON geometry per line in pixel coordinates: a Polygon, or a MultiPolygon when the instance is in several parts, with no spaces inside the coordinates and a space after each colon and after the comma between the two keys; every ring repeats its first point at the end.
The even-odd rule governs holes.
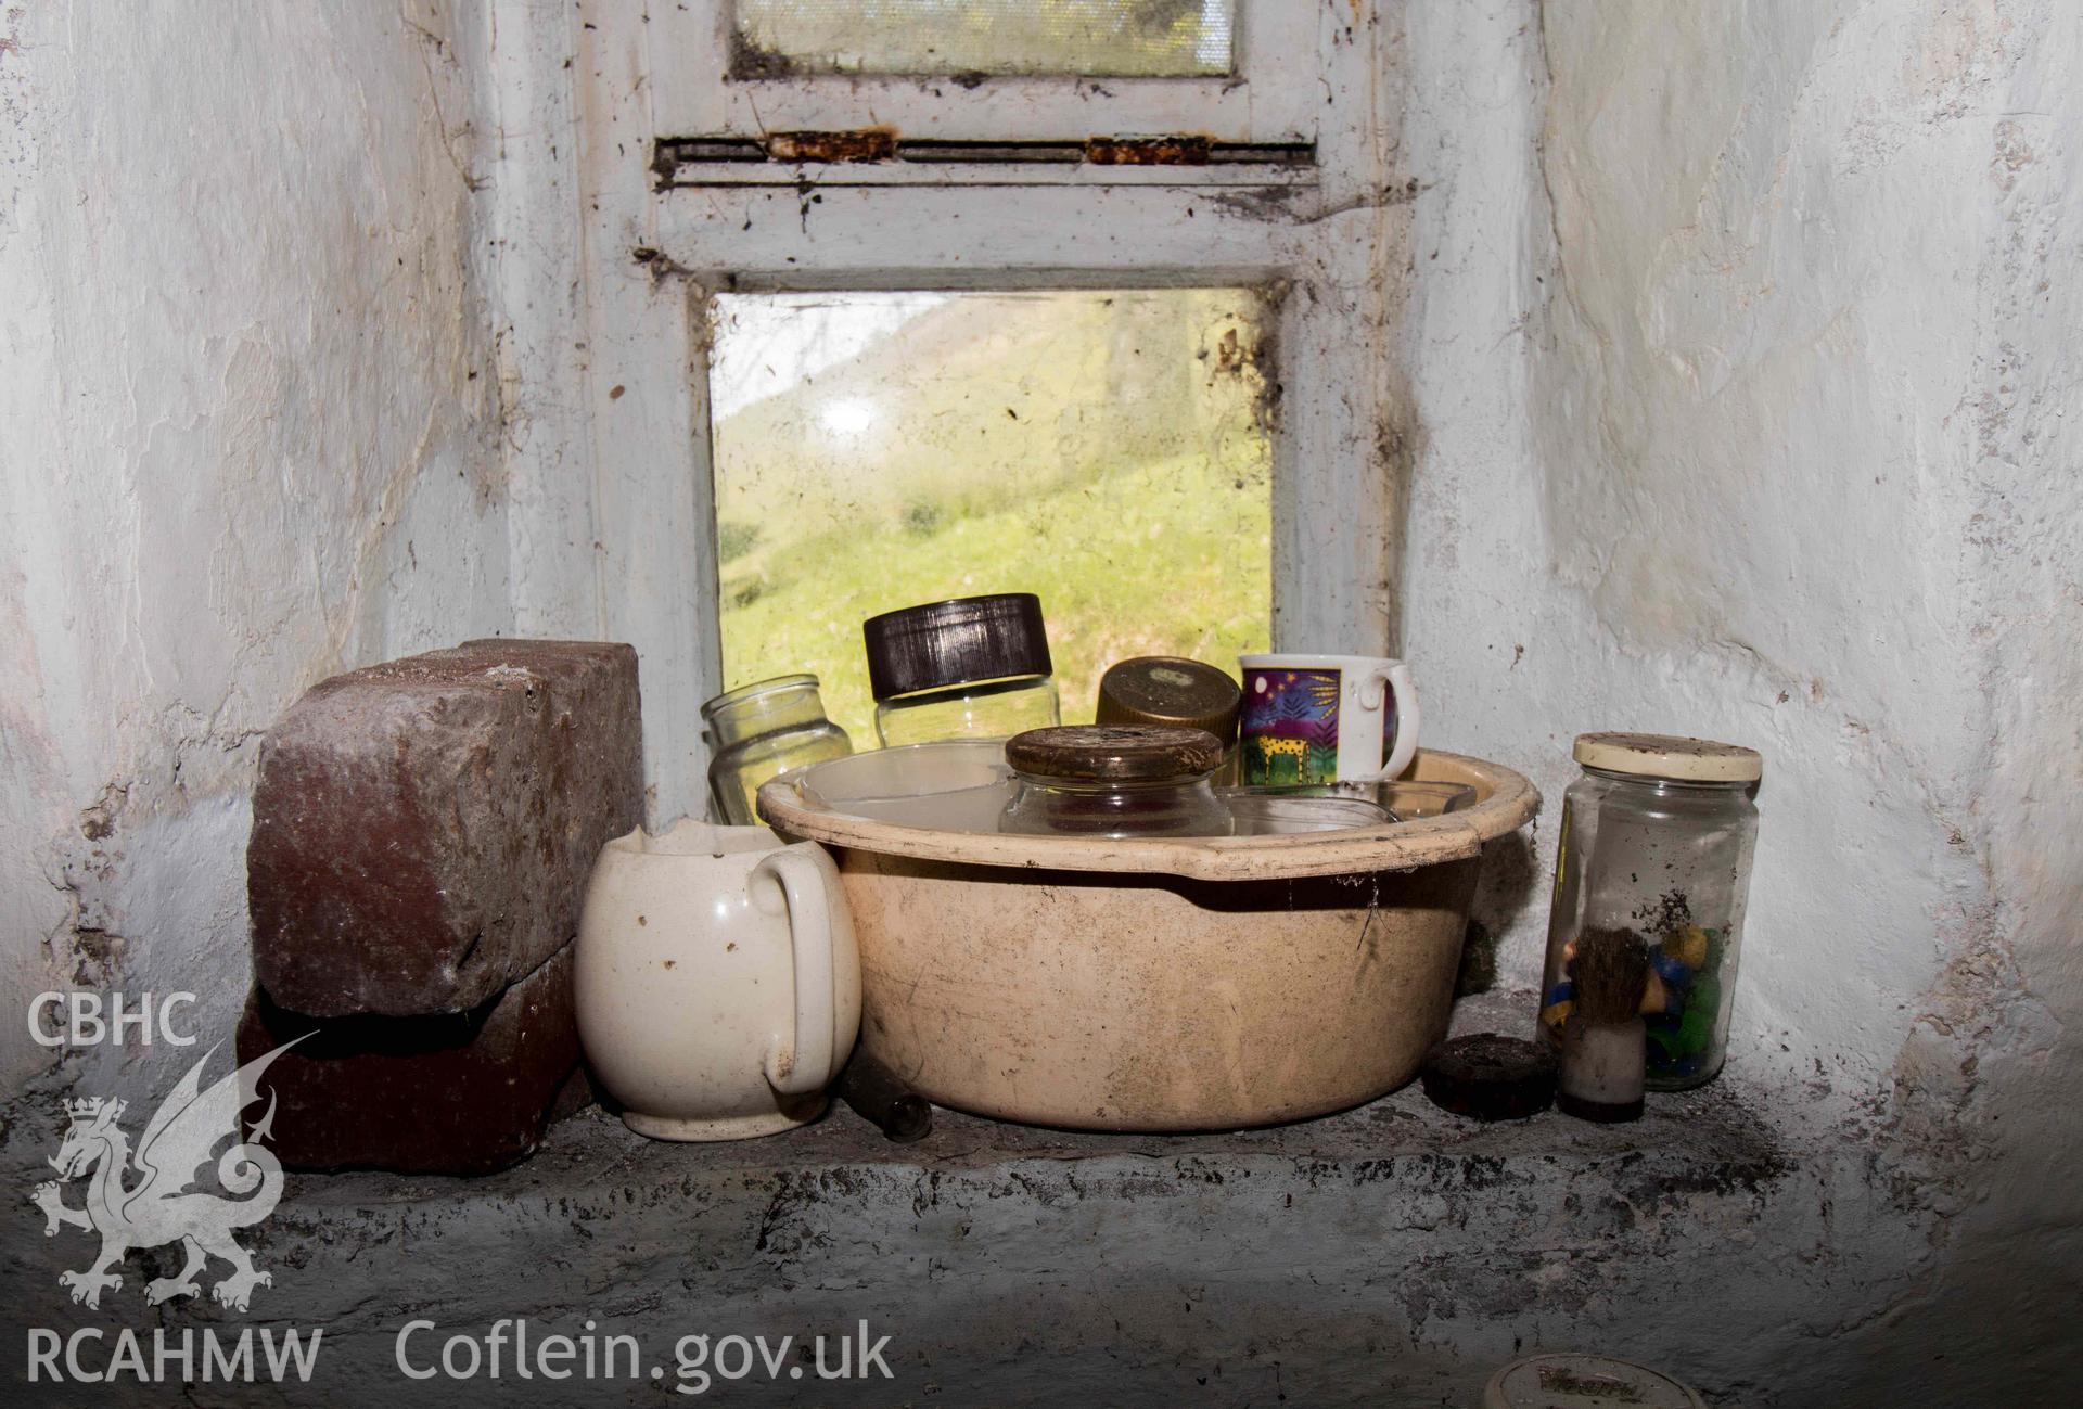
{"type": "Polygon", "coordinates": [[[875,851],[923,862],[1010,866],[1021,870],[1094,870],[1187,876],[1194,880],[1277,880],[1416,870],[1479,855],[1483,843],[1514,832],[1539,812],[1533,783],[1504,764],[1419,749],[1406,772],[1414,783],[1466,783],[1475,805],[1414,822],[1277,837],[1014,837],[900,826],[833,810],[804,789],[804,774],[760,787],[760,816],[785,837],[827,847],[875,851]]]}

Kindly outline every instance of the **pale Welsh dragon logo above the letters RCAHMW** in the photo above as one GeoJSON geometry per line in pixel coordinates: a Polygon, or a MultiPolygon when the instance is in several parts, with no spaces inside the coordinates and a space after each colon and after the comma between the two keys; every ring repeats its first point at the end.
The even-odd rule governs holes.
{"type": "Polygon", "coordinates": [[[210,1257],[231,1263],[231,1272],[219,1278],[210,1295],[235,1311],[246,1309],[254,1286],[273,1286],[275,1278],[254,1267],[246,1249],[231,1238],[231,1230],[252,1228],[273,1213],[281,1199],[281,1163],[260,1145],[275,1122],[275,1099],[269,1097],[267,1113],[254,1126],[252,1138],[240,1136],[240,1116],[258,1099],[260,1074],[292,1045],[254,1057],[208,1091],[202,1091],[202,1068],[217,1049],[202,1053],[202,1061],[190,1068],[173,1095],[152,1113],[135,1155],[129,1149],[129,1134],[119,1124],[123,1101],[94,1097],[67,1103],[71,1124],[50,1159],[58,1178],[37,1184],[31,1203],[44,1209],[46,1238],[56,1236],[58,1228],[102,1234],[102,1255],[92,1267],[58,1274],[58,1284],[71,1288],[73,1301],[100,1307],[104,1290],[123,1286],[123,1278],[110,1267],[121,1263],[125,1253],[167,1243],[179,1243],[187,1261],[179,1274],[146,1284],[146,1305],[200,1295],[196,1274],[210,1257]],[[196,1188],[196,1176],[225,1138],[231,1147],[217,1159],[217,1182],[229,1195],[237,1195],[231,1199],[196,1188]],[[144,1178],[125,1186],[123,1180],[131,1172],[144,1178]],[[77,1178],[87,1180],[87,1201],[79,1209],[62,1201],[65,1184],[77,1178]]]}

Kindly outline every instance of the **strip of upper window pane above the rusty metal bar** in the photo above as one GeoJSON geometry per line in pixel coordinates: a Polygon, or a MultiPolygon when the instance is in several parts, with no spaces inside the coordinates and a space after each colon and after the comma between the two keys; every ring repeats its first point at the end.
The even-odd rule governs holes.
{"type": "Polygon", "coordinates": [[[1229,73],[1235,10],[1237,0],[737,0],[731,69],[1229,73]]]}

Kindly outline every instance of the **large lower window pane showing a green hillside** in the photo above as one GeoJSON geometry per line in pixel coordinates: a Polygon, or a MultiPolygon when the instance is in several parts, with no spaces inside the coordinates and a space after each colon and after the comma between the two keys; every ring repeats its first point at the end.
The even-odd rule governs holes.
{"type": "Polygon", "coordinates": [[[873,747],[860,622],[996,591],[1042,597],[1064,722],[1114,660],[1266,649],[1269,316],[1254,289],[717,298],[725,687],[814,670],[873,747]]]}

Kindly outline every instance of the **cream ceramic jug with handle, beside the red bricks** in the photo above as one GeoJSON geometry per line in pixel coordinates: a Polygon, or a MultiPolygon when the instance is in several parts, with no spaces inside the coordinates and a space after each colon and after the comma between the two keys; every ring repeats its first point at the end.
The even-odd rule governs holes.
{"type": "Polygon", "coordinates": [[[839,868],[764,826],[685,820],[604,845],[573,982],[594,1078],[658,1141],[817,1120],[860,1028],[839,868]]]}

